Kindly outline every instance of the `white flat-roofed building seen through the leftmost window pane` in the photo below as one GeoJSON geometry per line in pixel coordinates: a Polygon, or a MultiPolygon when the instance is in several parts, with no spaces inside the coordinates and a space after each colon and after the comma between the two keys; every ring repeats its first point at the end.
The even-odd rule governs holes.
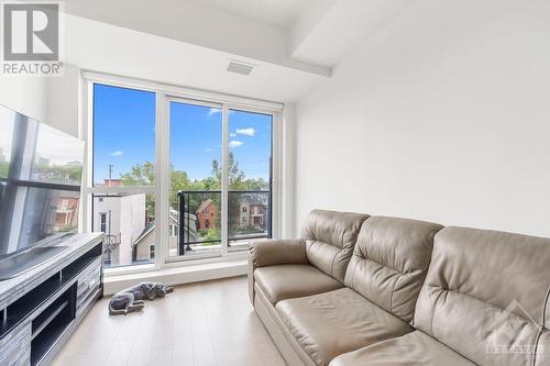
{"type": "Polygon", "coordinates": [[[94,196],[94,231],[106,233],[106,265],[132,264],[133,243],[145,229],[145,193],[94,196]]]}

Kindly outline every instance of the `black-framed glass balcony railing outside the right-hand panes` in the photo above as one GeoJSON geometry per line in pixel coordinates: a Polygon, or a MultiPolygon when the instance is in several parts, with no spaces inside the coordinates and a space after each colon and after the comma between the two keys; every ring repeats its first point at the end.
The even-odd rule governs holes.
{"type": "MultiPolygon", "coordinates": [[[[221,243],[221,191],[178,192],[178,254],[208,249],[221,243]]],[[[272,236],[272,195],[268,190],[228,191],[228,245],[272,236]]]]}

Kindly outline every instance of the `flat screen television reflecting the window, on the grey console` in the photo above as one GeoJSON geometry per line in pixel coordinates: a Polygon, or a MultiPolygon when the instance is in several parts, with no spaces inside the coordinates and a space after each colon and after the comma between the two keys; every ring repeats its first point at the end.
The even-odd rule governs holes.
{"type": "Polygon", "coordinates": [[[82,159],[82,141],[0,106],[0,279],[21,262],[7,258],[77,229],[82,159]]]}

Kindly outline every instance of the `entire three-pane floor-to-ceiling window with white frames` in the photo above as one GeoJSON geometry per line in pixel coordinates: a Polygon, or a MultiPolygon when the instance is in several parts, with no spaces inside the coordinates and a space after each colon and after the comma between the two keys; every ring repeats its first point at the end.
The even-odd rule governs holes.
{"type": "Polygon", "coordinates": [[[87,224],[106,265],[224,256],[271,237],[274,112],[90,80],[87,224]]]}

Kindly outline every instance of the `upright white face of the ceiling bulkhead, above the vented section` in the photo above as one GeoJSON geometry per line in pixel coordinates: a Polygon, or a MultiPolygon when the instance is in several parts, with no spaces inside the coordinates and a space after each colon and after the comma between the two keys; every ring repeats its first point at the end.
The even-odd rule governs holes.
{"type": "Polygon", "coordinates": [[[228,12],[205,0],[66,0],[65,10],[76,16],[228,52],[258,62],[321,76],[330,75],[330,70],[326,67],[290,58],[288,30],[258,19],[228,12]]]}

